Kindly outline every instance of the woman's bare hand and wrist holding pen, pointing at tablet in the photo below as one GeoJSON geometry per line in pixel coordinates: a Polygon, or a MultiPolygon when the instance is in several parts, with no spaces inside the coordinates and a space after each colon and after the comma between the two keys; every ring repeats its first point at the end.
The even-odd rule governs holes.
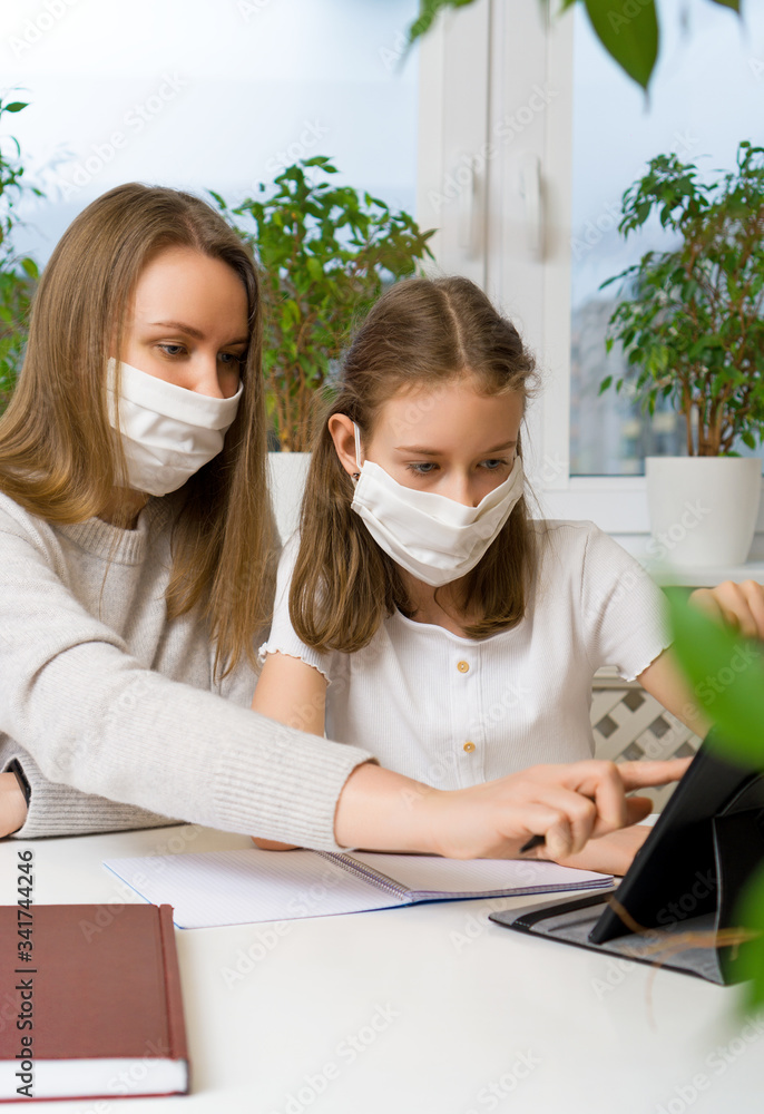
{"type": "Polygon", "coordinates": [[[521,858],[522,846],[543,836],[543,857],[561,859],[580,852],[588,839],[641,820],[652,802],[626,793],[676,781],[688,764],[689,759],[673,759],[538,765],[443,791],[364,763],[340,795],[334,830],[345,847],[453,859],[521,858]]]}

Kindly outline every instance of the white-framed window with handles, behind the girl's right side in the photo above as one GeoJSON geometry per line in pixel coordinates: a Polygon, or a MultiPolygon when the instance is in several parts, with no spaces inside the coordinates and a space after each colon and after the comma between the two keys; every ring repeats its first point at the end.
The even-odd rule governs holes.
{"type": "MultiPolygon", "coordinates": [[[[718,6],[662,0],[647,102],[581,9],[547,20],[539,0],[478,0],[440,21],[420,58],[418,217],[441,229],[440,266],[479,282],[539,358],[530,471],[546,512],[631,535],[648,529],[639,422],[596,399],[609,315],[597,287],[646,250],[615,225],[653,155],[707,154],[714,169],[738,140],[764,143],[764,12],[748,4],[743,31],[718,6]]],[[[674,451],[672,419],[648,451],[674,451]]]]}

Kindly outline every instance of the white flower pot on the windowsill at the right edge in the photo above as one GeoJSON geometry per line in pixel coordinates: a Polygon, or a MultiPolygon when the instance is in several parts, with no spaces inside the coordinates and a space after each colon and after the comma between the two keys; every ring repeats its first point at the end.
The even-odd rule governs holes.
{"type": "Polygon", "coordinates": [[[648,457],[650,555],[670,565],[742,565],[762,495],[762,461],[750,457],[648,457]]]}

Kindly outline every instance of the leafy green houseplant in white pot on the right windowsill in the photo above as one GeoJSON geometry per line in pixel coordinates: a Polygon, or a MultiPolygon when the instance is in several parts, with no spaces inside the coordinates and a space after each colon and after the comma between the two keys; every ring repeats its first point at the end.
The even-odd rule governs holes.
{"type": "Polygon", "coordinates": [[[624,236],[655,214],[675,246],[603,284],[621,284],[606,344],[623,344],[627,370],[600,392],[628,383],[649,413],[665,399],[684,419],[687,457],[647,459],[660,548],[679,564],[744,561],[761,461],[736,447],[755,449],[764,433],[764,148],[741,143],[735,168],[711,183],[694,164],[658,155],[621,212],[624,236]],[[692,529],[687,507],[699,508],[692,529]]]}

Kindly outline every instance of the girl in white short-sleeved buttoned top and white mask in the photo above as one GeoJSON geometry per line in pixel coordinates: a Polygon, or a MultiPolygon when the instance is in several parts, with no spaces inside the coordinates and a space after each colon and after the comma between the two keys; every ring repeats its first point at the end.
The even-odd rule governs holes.
{"type": "MultiPolygon", "coordinates": [[[[590,522],[529,518],[532,385],[468,280],[380,299],[319,430],[254,709],[450,790],[590,760],[605,664],[705,733],[637,561],[590,522]]],[[[586,864],[623,872],[644,836],[599,840],[586,864]]]]}

